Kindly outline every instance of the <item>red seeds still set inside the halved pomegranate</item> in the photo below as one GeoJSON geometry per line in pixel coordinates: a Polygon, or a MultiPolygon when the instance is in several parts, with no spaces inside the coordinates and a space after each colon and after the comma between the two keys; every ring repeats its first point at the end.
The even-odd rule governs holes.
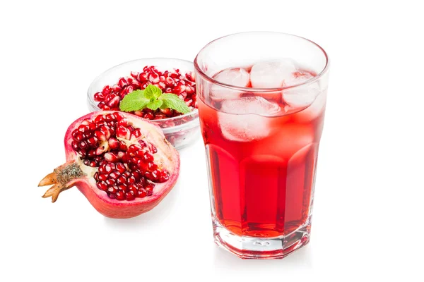
{"type": "Polygon", "coordinates": [[[153,154],[158,149],[122,114],[86,119],[71,135],[72,148],[83,164],[98,167],[94,174],[96,185],[112,199],[150,196],[154,183],[169,179],[170,174],[154,163],[153,154]]]}

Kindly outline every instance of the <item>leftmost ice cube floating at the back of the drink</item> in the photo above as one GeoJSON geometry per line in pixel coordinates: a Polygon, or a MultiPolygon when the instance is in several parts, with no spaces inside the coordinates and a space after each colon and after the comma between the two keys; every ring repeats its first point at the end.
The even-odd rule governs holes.
{"type": "MultiPolygon", "coordinates": [[[[214,75],[213,78],[228,85],[247,87],[250,83],[249,76],[249,73],[244,68],[229,68],[224,71],[220,71],[214,75]]],[[[241,94],[242,92],[238,90],[232,90],[220,85],[211,86],[210,95],[215,100],[239,98],[241,94]]]]}

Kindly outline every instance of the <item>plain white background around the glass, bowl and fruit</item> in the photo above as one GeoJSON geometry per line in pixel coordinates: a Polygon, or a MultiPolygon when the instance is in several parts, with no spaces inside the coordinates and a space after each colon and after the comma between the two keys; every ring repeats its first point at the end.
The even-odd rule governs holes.
{"type": "Polygon", "coordinates": [[[423,281],[423,10],[391,3],[1,1],[0,281],[423,281]],[[201,140],[181,152],[170,195],[134,219],[106,219],[76,188],[40,197],[99,73],[193,60],[249,30],[307,37],[331,57],[307,247],[256,261],[214,245],[201,140]]]}

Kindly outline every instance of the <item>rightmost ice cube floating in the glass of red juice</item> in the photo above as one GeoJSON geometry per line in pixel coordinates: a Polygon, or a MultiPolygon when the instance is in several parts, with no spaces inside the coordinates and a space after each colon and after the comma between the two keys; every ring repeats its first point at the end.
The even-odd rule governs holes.
{"type": "MultiPolygon", "coordinates": [[[[314,75],[305,71],[297,71],[285,80],[284,86],[300,85],[307,80],[314,78],[314,75]]],[[[283,100],[291,108],[305,108],[315,100],[319,94],[318,82],[307,83],[283,90],[283,100]]]]}

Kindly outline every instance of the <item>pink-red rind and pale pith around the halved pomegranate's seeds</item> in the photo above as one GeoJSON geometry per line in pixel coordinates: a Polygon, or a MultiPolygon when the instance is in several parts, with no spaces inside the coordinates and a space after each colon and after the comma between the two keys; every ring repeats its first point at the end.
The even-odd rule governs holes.
{"type": "Polygon", "coordinates": [[[172,190],[175,183],[177,183],[177,178],[179,176],[180,161],[177,149],[175,149],[175,147],[173,147],[170,142],[165,139],[165,135],[163,135],[163,131],[158,125],[155,125],[146,119],[139,118],[132,114],[126,114],[124,112],[97,111],[78,118],[66,131],[64,145],[67,162],[77,161],[80,166],[84,166],[78,154],[71,147],[72,131],[78,128],[78,125],[80,125],[85,119],[92,120],[96,116],[113,113],[123,114],[129,119],[129,121],[131,121],[131,123],[133,123],[134,127],[141,129],[141,133],[144,137],[157,147],[158,152],[154,154],[155,164],[166,168],[166,170],[170,173],[169,180],[165,183],[155,183],[153,195],[149,197],[136,198],[132,201],[111,199],[104,191],[99,190],[96,187],[95,180],[93,178],[93,174],[96,169],[89,168],[88,166],[84,167],[84,171],[88,174],[87,176],[83,178],[76,178],[69,182],[68,185],[75,185],[78,190],[86,196],[88,202],[90,202],[90,204],[92,204],[93,207],[100,212],[100,214],[113,219],[128,219],[150,211],[163,200],[170,190],[172,190]]]}

